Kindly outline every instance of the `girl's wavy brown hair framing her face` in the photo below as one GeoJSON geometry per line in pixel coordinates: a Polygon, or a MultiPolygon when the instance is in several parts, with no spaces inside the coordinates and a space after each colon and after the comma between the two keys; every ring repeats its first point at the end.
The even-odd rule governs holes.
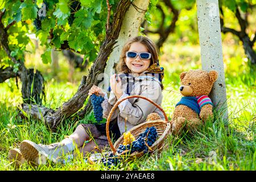
{"type": "Polygon", "coordinates": [[[148,52],[151,53],[150,65],[156,63],[158,60],[158,49],[156,48],[155,43],[146,36],[135,36],[134,38],[127,40],[125,46],[122,48],[119,63],[117,64],[117,71],[119,73],[131,73],[125,63],[125,53],[129,51],[131,44],[134,42],[139,42],[147,47],[148,52]]]}

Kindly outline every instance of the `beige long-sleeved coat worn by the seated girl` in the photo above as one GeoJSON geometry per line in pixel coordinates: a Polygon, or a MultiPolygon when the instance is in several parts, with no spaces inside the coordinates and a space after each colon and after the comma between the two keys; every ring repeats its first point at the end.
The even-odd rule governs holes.
{"type": "MultiPolygon", "coordinates": [[[[130,74],[134,77],[133,74],[130,74]]],[[[126,77],[127,78],[127,77],[126,77]]],[[[133,80],[133,79],[132,79],[133,80]]],[[[125,93],[127,88],[127,81],[125,78],[122,79],[122,90],[123,95],[119,98],[121,100],[123,97],[129,96],[125,93]]],[[[130,91],[130,96],[139,95],[150,98],[156,104],[161,105],[163,94],[158,78],[152,76],[146,76],[142,74],[141,76],[134,77],[134,86],[130,91]]],[[[117,102],[117,97],[115,97],[113,91],[110,92],[109,98],[105,93],[105,101],[102,103],[103,107],[103,117],[108,118],[110,110],[113,108],[114,104],[117,102]]],[[[110,122],[117,117],[118,127],[120,133],[125,132],[125,118],[127,118],[126,127],[127,131],[134,126],[145,122],[147,115],[150,113],[158,113],[161,119],[164,119],[162,111],[160,111],[153,104],[144,100],[143,98],[130,98],[128,100],[122,101],[117,109],[112,114],[110,122]]]]}

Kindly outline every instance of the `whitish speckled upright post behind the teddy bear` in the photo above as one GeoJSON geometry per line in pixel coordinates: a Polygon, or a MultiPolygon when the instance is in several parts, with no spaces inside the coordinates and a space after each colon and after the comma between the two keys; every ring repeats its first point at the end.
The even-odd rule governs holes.
{"type": "Polygon", "coordinates": [[[197,19],[201,47],[202,68],[205,71],[218,72],[210,98],[228,125],[228,105],[226,100],[226,84],[222,57],[220,14],[218,0],[197,0],[197,19]]]}

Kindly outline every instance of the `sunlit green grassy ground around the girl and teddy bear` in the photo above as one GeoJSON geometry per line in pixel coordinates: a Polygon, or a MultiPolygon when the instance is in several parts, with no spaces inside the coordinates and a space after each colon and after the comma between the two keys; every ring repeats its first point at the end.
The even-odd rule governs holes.
{"type": "MultiPolygon", "coordinates": [[[[226,91],[229,109],[229,128],[224,121],[214,114],[214,122],[208,121],[196,133],[184,134],[180,138],[168,137],[168,149],[159,155],[144,156],[134,161],[127,161],[113,170],[255,170],[255,68],[247,66],[241,46],[224,43],[224,64],[226,91]]],[[[61,67],[67,70],[64,60],[61,67]]],[[[183,44],[164,45],[160,64],[165,68],[163,109],[171,117],[175,104],[180,100],[178,92],[179,74],[189,69],[200,67],[200,47],[183,44]]],[[[28,67],[34,67],[27,63],[28,67]]],[[[49,65],[36,66],[47,76],[49,65]],[[48,69],[47,69],[48,68],[48,69]]],[[[56,80],[47,77],[47,107],[56,108],[67,101],[76,92],[81,73],[74,75],[75,82],[67,82],[67,74],[60,73],[56,80]]],[[[24,139],[36,143],[53,143],[64,139],[73,132],[80,122],[92,119],[92,115],[79,123],[67,121],[56,133],[51,133],[44,124],[33,119],[21,121],[16,117],[16,107],[21,100],[20,90],[14,80],[6,81],[0,87],[0,170],[14,170],[8,160],[11,148],[19,147],[24,139]]],[[[19,86],[20,88],[20,86],[19,86]]],[[[34,168],[23,164],[19,170],[101,170],[102,164],[86,163],[78,156],[68,164],[49,163],[34,168]]]]}

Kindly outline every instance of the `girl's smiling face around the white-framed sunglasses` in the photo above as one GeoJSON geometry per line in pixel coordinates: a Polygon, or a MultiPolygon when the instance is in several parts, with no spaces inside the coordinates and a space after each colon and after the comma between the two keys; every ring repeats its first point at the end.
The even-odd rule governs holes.
{"type": "MultiPolygon", "coordinates": [[[[133,52],[148,52],[148,49],[144,44],[134,42],[130,45],[129,51],[133,52]]],[[[144,60],[137,55],[135,58],[125,57],[125,63],[132,73],[142,73],[150,66],[150,59],[144,60]]]]}

